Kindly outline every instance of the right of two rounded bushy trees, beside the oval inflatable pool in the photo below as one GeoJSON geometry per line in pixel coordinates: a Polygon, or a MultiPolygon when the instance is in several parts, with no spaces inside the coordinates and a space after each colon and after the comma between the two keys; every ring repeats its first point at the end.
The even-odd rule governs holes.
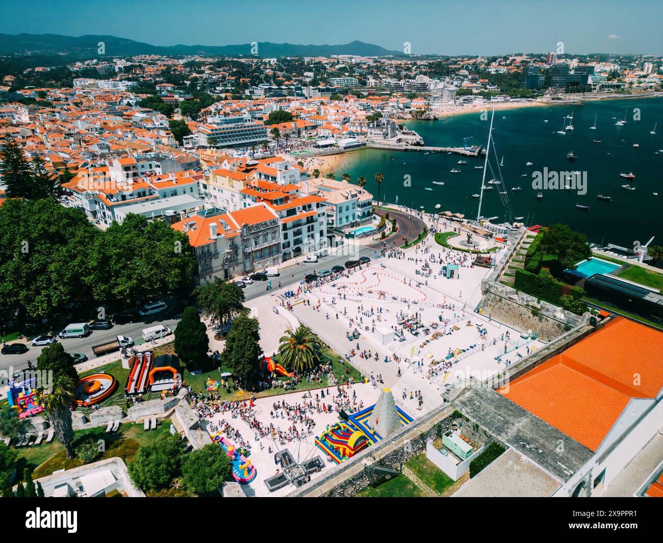
{"type": "Polygon", "coordinates": [[[182,462],[182,478],[187,487],[200,495],[212,495],[230,479],[230,459],[217,444],[210,443],[192,451],[182,462]]]}

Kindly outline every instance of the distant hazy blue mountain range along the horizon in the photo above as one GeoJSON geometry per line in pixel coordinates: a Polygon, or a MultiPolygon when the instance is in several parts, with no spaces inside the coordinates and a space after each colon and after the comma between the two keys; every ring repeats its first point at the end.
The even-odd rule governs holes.
{"type": "MultiPolygon", "coordinates": [[[[0,34],[0,54],[62,54],[68,58],[92,58],[99,56],[202,55],[202,56],[251,56],[251,44],[239,45],[171,45],[156,46],[149,43],[117,38],[116,36],[62,36],[60,34],[0,34]],[[105,45],[105,54],[97,52],[99,42],[105,45]]],[[[353,41],[342,45],[297,45],[290,43],[259,42],[257,56],[330,56],[354,54],[361,56],[403,56],[400,51],[390,51],[379,45],[353,41]]]]}

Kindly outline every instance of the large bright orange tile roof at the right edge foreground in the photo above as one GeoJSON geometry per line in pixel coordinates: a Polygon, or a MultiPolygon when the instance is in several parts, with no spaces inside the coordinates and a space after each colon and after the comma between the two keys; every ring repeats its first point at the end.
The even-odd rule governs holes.
{"type": "Polygon", "coordinates": [[[662,332],[618,317],[499,392],[595,451],[631,398],[663,387],[662,349],[662,332]]]}

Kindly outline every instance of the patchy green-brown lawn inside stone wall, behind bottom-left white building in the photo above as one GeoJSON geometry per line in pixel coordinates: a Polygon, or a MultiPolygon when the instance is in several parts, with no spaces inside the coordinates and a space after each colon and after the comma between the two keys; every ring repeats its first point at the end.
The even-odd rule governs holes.
{"type": "MultiPolygon", "coordinates": [[[[141,445],[152,443],[163,434],[170,433],[170,419],[160,422],[156,430],[145,432],[143,424],[125,423],[121,424],[119,431],[113,434],[106,434],[105,428],[92,428],[91,430],[76,430],[74,440],[80,440],[84,436],[95,436],[103,440],[105,452],[103,452],[94,461],[103,460],[119,456],[128,462],[141,445]]],[[[76,442],[74,441],[74,446],[76,442]]],[[[83,461],[74,458],[67,459],[64,447],[54,439],[49,444],[42,444],[38,447],[24,447],[17,449],[19,452],[19,462],[17,469],[29,469],[32,471],[32,477],[45,477],[58,469],[71,469],[83,465],[83,461]]]]}

